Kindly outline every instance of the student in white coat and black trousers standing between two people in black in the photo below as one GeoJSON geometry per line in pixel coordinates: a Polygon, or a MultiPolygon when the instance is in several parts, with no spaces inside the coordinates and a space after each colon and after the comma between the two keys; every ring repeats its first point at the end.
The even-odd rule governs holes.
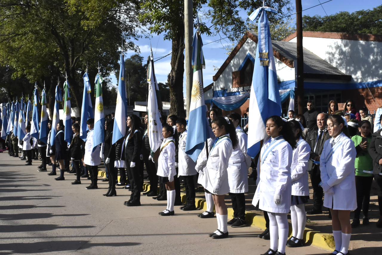
{"type": "Polygon", "coordinates": [[[89,128],[89,132],[86,136],[85,143],[85,155],[84,155],[84,166],[87,167],[89,172],[91,172],[91,185],[87,186],[87,190],[97,189],[97,179],[98,179],[98,165],[101,164],[101,160],[99,158],[99,146],[95,147],[93,151],[93,136],[94,136],[94,119],[88,119],[87,127],[89,128]]]}

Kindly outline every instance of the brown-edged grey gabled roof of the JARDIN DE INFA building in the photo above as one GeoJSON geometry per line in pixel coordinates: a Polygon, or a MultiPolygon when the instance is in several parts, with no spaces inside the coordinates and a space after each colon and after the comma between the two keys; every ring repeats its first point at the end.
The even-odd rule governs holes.
{"type": "MultiPolygon", "coordinates": [[[[241,47],[247,39],[257,43],[257,34],[254,31],[247,31],[240,42],[232,50],[231,54],[225,60],[223,65],[219,68],[217,73],[212,77],[213,81],[216,81],[219,76],[223,73],[225,68],[233,60],[235,55],[239,52],[241,47]]],[[[290,68],[294,68],[294,62],[297,56],[297,45],[295,42],[285,42],[285,41],[272,41],[273,54],[274,57],[283,62],[290,68]]],[[[255,51],[256,49],[254,49],[255,51]]],[[[311,51],[303,48],[304,54],[304,78],[322,78],[322,79],[332,79],[332,80],[346,80],[350,81],[351,76],[345,75],[342,71],[330,65],[328,62],[313,54],[311,51]]]]}

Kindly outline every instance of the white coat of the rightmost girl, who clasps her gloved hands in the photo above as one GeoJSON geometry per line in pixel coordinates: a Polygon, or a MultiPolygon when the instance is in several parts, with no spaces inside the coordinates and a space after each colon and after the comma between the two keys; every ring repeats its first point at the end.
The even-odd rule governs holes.
{"type": "Polygon", "coordinates": [[[329,158],[332,141],[325,141],[320,157],[322,183],[333,187],[334,194],[325,193],[324,206],[334,210],[355,210],[357,195],[354,174],[356,149],[353,141],[344,133],[335,139],[334,152],[329,158]],[[338,145],[338,146],[337,146],[338,145]]]}

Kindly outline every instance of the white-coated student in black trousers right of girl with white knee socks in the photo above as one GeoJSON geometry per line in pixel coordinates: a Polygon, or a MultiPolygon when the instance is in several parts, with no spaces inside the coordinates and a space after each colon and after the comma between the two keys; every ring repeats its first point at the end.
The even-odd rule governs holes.
{"type": "Polygon", "coordinates": [[[180,118],[176,120],[176,129],[179,134],[179,149],[178,149],[178,174],[183,177],[183,183],[186,189],[186,205],[181,206],[180,210],[193,211],[196,210],[195,206],[195,182],[194,177],[197,174],[195,170],[196,163],[186,154],[186,140],[187,140],[187,122],[185,119],[180,118]]]}

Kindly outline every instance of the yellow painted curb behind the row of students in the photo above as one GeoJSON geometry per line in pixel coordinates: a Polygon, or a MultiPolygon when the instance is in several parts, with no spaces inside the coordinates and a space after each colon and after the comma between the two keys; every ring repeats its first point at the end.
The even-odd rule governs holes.
{"type": "MultiPolygon", "coordinates": [[[[99,171],[98,177],[106,177],[105,171],[99,171]]],[[[120,179],[120,176],[118,176],[118,181],[120,179]]],[[[150,189],[150,184],[144,183],[143,184],[143,191],[147,192],[150,189]]],[[[186,202],[186,193],[181,192],[180,193],[182,203],[186,202]]],[[[197,210],[207,210],[207,204],[206,200],[202,198],[196,198],[195,199],[195,206],[197,210]]],[[[228,210],[228,216],[233,215],[233,209],[227,208],[228,210]]],[[[265,219],[264,216],[258,215],[253,212],[245,211],[245,221],[248,225],[251,225],[253,227],[257,227],[259,229],[265,230],[265,219]]],[[[291,234],[291,227],[290,234],[291,234]]],[[[304,241],[306,245],[312,245],[314,247],[327,250],[327,251],[333,251],[335,247],[334,239],[331,234],[324,234],[320,233],[318,231],[314,231],[313,229],[305,228],[304,231],[304,241]]]]}

